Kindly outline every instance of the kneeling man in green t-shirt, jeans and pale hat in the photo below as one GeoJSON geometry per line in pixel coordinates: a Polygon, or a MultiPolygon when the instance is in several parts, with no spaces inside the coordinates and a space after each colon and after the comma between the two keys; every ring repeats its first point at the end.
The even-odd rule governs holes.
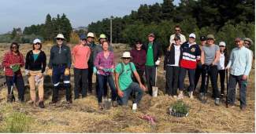
{"type": "Polygon", "coordinates": [[[118,63],[115,69],[115,82],[117,86],[117,94],[119,96],[118,103],[120,105],[127,105],[131,92],[138,92],[136,93],[137,96],[135,96],[135,100],[133,102],[138,104],[142,99],[143,91],[145,91],[146,88],[140,81],[139,74],[135,69],[134,63],[130,62],[131,54],[129,52],[124,52],[121,59],[123,61],[118,63]],[[139,81],[139,84],[132,81],[133,76],[137,81],[139,81]]]}

